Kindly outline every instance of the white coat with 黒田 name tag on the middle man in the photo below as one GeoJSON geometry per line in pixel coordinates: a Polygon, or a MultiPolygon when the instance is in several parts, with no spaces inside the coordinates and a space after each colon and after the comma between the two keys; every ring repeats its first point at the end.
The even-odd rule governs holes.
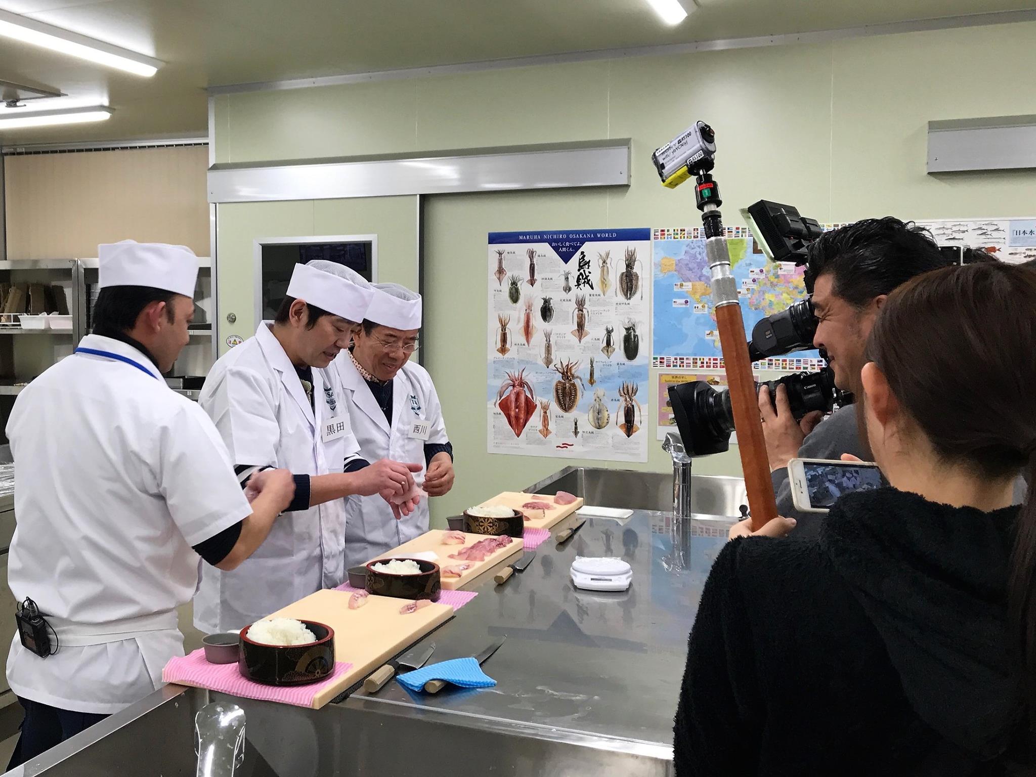
{"type": "MultiPolygon", "coordinates": [[[[341,472],[359,451],[334,370],[313,370],[311,406],[269,322],[221,356],[198,403],[215,423],[237,466],[279,467],[292,474],[341,472]],[[314,407],[316,412],[314,414],[314,407]],[[344,422],[344,427],[340,425],[344,422]],[[324,441],[326,424],[339,429],[324,441]]],[[[233,631],[345,580],[345,503],[333,499],[286,513],[265,542],[233,572],[202,570],[195,626],[233,631]]]]}

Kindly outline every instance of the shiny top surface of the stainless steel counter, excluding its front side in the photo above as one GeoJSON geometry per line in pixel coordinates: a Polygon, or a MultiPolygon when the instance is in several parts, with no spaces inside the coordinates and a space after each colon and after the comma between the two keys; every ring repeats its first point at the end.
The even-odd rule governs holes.
{"type": "Polygon", "coordinates": [[[479,596],[426,641],[436,645],[433,660],[443,660],[473,655],[507,635],[485,665],[495,688],[430,696],[393,683],[345,703],[402,704],[668,748],[687,635],[726,524],[685,521],[690,564],[682,570],[672,566],[671,529],[661,513],[637,511],[623,523],[591,518],[565,546],[540,546],[525,572],[503,585],[484,576],[479,596]],[[624,558],[633,567],[632,586],[575,588],[569,567],[577,555],[624,558]]]}

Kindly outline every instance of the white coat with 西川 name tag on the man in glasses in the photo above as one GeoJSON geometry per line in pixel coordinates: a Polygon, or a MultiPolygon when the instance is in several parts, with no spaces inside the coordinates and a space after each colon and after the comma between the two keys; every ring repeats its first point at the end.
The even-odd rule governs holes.
{"type": "MultiPolygon", "coordinates": [[[[342,351],[334,366],[342,379],[359,453],[368,461],[392,459],[424,465],[425,442],[445,444],[450,441],[439,396],[428,370],[421,365],[407,362],[393,378],[391,429],[348,352],[342,351]],[[414,422],[428,424],[427,440],[413,434],[414,422]]],[[[418,485],[424,484],[425,469],[414,472],[413,480],[418,485]]],[[[428,499],[422,499],[416,510],[400,520],[396,520],[392,508],[377,494],[349,496],[345,506],[346,569],[365,564],[428,531],[428,499]]]]}

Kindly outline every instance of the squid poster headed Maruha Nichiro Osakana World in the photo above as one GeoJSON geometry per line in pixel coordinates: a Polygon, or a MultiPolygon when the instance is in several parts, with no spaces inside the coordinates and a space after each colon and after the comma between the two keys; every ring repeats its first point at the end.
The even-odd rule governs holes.
{"type": "Polygon", "coordinates": [[[489,453],[648,461],[650,272],[650,229],[489,234],[489,453]]]}

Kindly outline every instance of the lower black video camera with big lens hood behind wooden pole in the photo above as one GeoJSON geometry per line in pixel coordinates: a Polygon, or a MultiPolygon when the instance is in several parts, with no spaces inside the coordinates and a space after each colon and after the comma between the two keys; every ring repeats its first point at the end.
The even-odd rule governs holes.
{"type": "MultiPolygon", "coordinates": [[[[851,394],[835,386],[835,371],[831,367],[819,372],[800,372],[777,380],[765,380],[755,384],[755,391],[764,385],[770,388],[771,401],[776,400],[777,386],[784,386],[796,421],[814,410],[829,413],[836,404],[846,405],[853,401],[851,394]]],[[[707,456],[723,453],[730,447],[733,411],[729,392],[716,391],[704,380],[692,380],[669,386],[669,404],[688,454],[707,456]]]]}

